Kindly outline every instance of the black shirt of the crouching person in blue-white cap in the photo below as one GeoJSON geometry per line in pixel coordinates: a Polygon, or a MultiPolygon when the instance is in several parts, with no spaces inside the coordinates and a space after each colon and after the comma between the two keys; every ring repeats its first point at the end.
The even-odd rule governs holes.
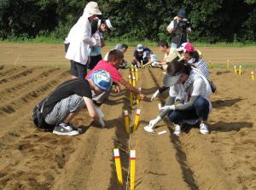
{"type": "Polygon", "coordinates": [[[92,99],[90,85],[83,78],[75,78],[61,83],[50,95],[44,105],[44,116],[53,110],[55,105],[70,95],[85,96],[92,99]]]}

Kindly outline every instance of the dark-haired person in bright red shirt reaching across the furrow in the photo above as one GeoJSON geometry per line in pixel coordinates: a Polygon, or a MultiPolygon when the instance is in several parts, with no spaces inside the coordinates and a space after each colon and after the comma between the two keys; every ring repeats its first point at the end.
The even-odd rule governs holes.
{"type": "Polygon", "coordinates": [[[116,92],[120,91],[120,83],[121,83],[125,86],[126,89],[129,89],[129,90],[131,90],[131,92],[134,92],[137,95],[139,95],[141,100],[143,100],[143,101],[148,100],[146,95],[143,95],[143,93],[141,93],[140,90],[133,87],[119,73],[118,68],[119,68],[119,65],[120,65],[121,61],[123,60],[123,58],[124,58],[124,55],[119,50],[113,49],[113,50],[109,51],[108,61],[100,60],[100,62],[98,62],[98,64],[94,67],[94,69],[89,72],[89,74],[86,76],[86,78],[88,78],[90,76],[91,72],[94,72],[99,69],[105,70],[105,71],[109,72],[111,77],[113,78],[113,84],[115,86],[114,90],[116,92]]]}

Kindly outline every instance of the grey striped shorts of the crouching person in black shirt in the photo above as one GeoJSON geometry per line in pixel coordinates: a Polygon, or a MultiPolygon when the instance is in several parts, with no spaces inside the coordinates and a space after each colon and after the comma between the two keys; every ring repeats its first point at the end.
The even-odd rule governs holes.
{"type": "Polygon", "coordinates": [[[53,110],[45,117],[47,124],[59,124],[70,112],[77,112],[85,107],[83,97],[79,95],[70,95],[59,101],[53,110]]]}

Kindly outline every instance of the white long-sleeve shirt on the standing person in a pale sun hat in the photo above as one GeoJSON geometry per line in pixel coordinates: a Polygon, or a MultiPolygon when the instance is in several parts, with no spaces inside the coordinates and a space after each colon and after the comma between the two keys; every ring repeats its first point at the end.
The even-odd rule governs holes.
{"type": "Polygon", "coordinates": [[[86,65],[88,60],[88,49],[90,45],[96,45],[96,39],[91,37],[91,24],[88,20],[91,14],[86,13],[79,18],[71,28],[66,41],[69,44],[66,58],[86,65]]]}

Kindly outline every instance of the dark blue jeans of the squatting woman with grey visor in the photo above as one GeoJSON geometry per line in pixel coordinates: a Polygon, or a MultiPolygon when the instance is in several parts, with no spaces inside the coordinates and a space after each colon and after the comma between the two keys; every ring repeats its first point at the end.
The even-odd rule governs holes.
{"type": "Polygon", "coordinates": [[[171,111],[168,114],[168,118],[174,124],[183,124],[185,119],[202,119],[207,120],[209,115],[209,102],[207,99],[199,96],[194,104],[193,109],[186,111],[171,111]]]}

